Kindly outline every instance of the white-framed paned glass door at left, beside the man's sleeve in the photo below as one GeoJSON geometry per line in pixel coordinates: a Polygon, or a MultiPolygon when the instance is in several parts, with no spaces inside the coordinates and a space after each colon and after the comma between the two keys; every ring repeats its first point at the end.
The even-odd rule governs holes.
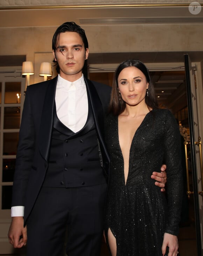
{"type": "Polygon", "coordinates": [[[20,72],[17,76],[0,73],[0,248],[3,254],[14,252],[7,233],[24,88],[25,81],[20,72]]]}

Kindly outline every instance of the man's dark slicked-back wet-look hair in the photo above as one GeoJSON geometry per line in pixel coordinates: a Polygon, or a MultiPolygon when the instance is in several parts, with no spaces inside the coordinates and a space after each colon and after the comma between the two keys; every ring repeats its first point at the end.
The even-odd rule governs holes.
{"type": "MultiPolygon", "coordinates": [[[[83,28],[81,28],[79,25],[77,25],[75,22],[65,22],[61,26],[57,28],[57,30],[54,33],[54,36],[52,38],[52,50],[55,52],[57,47],[57,42],[59,40],[59,35],[64,32],[76,32],[79,34],[79,36],[82,38],[85,50],[88,48],[88,41],[85,35],[85,31],[83,28]]],[[[56,71],[59,73],[59,65],[58,62],[54,59],[53,62],[56,66],[56,71]]]]}

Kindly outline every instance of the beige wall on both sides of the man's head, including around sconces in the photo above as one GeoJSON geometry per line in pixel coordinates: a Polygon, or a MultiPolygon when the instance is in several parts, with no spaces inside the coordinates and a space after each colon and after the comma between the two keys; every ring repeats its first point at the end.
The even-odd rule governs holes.
{"type": "MultiPolygon", "coordinates": [[[[203,24],[156,25],[94,25],[82,26],[89,40],[89,50],[96,52],[153,52],[153,51],[203,51],[203,24]]],[[[57,26],[0,28],[0,55],[26,55],[35,70],[36,53],[49,52],[52,61],[51,40],[57,26]]],[[[45,55],[44,55],[44,58],[45,55]]],[[[43,81],[38,73],[30,82],[43,81]],[[37,77],[36,77],[37,76],[37,77]],[[36,77],[36,78],[35,78],[36,77]]]]}

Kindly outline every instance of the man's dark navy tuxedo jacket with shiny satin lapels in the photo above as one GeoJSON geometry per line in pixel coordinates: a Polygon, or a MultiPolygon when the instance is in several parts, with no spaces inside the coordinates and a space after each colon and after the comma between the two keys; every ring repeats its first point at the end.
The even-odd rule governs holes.
{"type": "MultiPolygon", "coordinates": [[[[48,168],[48,156],[53,129],[53,111],[57,77],[27,87],[19,133],[13,183],[12,206],[25,206],[24,222],[33,208],[48,168]]],[[[104,145],[104,113],[111,88],[85,79],[93,110],[103,158],[103,168],[109,171],[109,156],[104,145]]]]}

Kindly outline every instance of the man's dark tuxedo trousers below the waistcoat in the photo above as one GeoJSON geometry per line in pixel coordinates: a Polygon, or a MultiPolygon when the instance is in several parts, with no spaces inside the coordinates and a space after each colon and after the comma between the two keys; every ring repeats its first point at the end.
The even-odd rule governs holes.
{"type": "Polygon", "coordinates": [[[68,256],[99,256],[106,188],[42,187],[27,221],[27,256],[64,256],[65,244],[68,256]]]}

